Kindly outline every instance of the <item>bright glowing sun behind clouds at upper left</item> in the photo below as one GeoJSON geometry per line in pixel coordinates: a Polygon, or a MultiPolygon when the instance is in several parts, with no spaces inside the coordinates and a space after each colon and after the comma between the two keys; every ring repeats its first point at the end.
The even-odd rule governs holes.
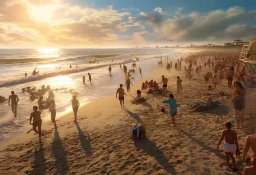
{"type": "Polygon", "coordinates": [[[48,6],[34,6],[29,10],[29,13],[31,14],[31,18],[37,21],[49,22],[52,18],[52,11],[48,6]]]}

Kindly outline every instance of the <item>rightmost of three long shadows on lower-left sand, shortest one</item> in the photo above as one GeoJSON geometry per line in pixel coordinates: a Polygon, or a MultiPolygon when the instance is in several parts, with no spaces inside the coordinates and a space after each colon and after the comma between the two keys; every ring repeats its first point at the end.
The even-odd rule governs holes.
{"type": "Polygon", "coordinates": [[[78,134],[79,134],[81,147],[85,151],[86,155],[92,156],[92,147],[91,147],[91,140],[90,140],[89,134],[86,133],[86,136],[85,136],[84,135],[85,131],[82,131],[81,128],[79,127],[79,125],[76,122],[75,122],[75,124],[76,124],[77,131],[78,131],[78,134]]]}

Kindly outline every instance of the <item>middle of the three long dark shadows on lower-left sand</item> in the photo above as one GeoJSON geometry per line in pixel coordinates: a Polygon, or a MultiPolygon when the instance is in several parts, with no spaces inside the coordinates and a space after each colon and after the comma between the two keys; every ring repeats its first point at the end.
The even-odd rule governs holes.
{"type": "Polygon", "coordinates": [[[65,155],[65,149],[61,143],[60,135],[58,134],[58,130],[54,131],[54,139],[52,142],[52,153],[55,158],[55,167],[57,169],[56,174],[67,174],[68,166],[67,166],[67,158],[65,155]]]}

